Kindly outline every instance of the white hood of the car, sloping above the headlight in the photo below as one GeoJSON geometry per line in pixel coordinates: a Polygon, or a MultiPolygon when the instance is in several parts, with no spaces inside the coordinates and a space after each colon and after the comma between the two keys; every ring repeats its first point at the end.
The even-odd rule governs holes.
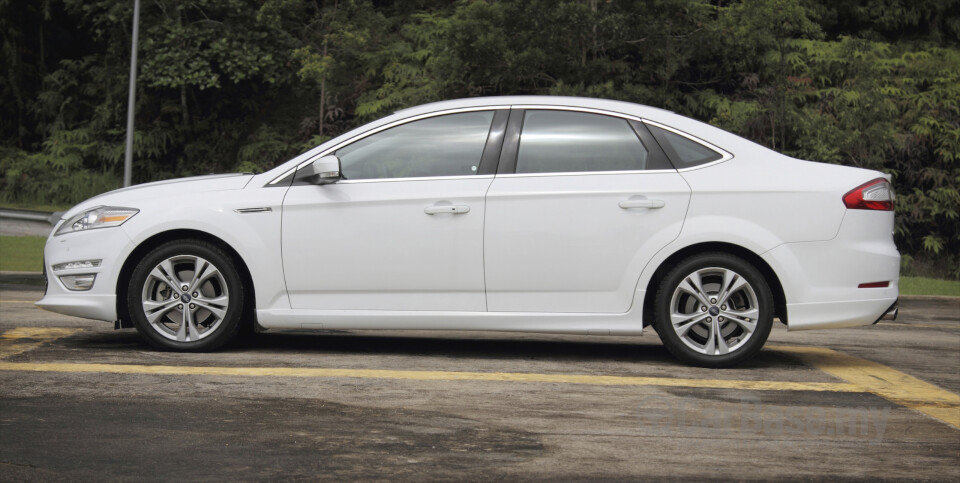
{"type": "Polygon", "coordinates": [[[243,189],[251,178],[253,178],[251,174],[211,174],[138,184],[94,196],[70,208],[61,218],[70,218],[96,206],[137,208],[137,202],[145,199],[175,197],[185,193],[243,189]]]}

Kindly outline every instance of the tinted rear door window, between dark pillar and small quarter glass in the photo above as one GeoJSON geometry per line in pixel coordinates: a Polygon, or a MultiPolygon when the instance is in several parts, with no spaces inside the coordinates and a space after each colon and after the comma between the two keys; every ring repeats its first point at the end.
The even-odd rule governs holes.
{"type": "Polygon", "coordinates": [[[570,111],[527,111],[518,173],[646,169],[647,150],[624,120],[570,111]]]}

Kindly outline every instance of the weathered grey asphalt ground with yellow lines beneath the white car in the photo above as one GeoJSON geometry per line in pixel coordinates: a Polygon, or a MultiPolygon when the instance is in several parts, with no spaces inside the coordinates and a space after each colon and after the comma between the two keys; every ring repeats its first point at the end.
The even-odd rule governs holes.
{"type": "MultiPolygon", "coordinates": [[[[0,286],[0,479],[960,480],[960,302],[724,370],[642,337],[265,333],[212,354],[0,286]]],[[[20,287],[29,288],[29,287],[20,287]]]]}

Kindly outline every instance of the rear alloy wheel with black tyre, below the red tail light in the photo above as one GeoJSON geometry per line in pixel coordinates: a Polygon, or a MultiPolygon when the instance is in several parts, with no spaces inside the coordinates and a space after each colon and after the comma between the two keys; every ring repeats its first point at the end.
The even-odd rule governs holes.
{"type": "Polygon", "coordinates": [[[655,328],[671,353],[724,367],[754,355],[773,324],[773,295],[763,275],[739,257],[696,255],[660,284],[655,328]]]}

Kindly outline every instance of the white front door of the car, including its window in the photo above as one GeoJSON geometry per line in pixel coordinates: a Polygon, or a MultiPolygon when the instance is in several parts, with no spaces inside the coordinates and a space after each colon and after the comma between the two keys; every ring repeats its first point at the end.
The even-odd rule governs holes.
{"type": "Polygon", "coordinates": [[[493,117],[462,112],[376,132],[335,152],[345,179],[291,186],[282,249],[292,308],[486,310],[493,176],[480,162],[493,117]]]}

